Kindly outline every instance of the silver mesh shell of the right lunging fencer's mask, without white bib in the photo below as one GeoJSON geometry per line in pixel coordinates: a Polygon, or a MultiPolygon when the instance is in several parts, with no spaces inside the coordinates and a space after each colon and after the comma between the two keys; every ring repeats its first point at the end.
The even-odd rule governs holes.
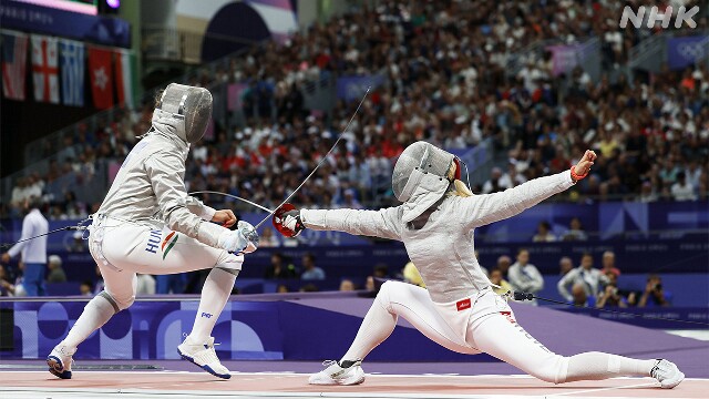
{"type": "Polygon", "coordinates": [[[421,173],[432,174],[448,180],[446,174],[453,164],[453,154],[427,142],[409,145],[397,160],[391,178],[392,190],[397,198],[403,203],[411,198],[420,183],[421,173]]]}

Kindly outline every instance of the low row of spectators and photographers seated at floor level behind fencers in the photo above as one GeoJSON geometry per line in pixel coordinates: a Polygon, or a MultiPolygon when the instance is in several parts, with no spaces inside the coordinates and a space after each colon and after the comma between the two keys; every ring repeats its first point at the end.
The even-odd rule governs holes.
{"type": "MultiPolygon", "coordinates": [[[[500,295],[510,290],[537,294],[544,288],[545,280],[537,267],[531,262],[530,252],[524,248],[517,252],[514,263],[510,256],[502,255],[493,267],[481,266],[481,268],[494,285],[494,291],[500,295]]],[[[66,274],[62,268],[62,259],[59,256],[51,255],[49,257],[48,269],[45,278],[48,285],[68,283],[66,274]]],[[[138,275],[137,295],[198,294],[207,272],[199,270],[183,275],[155,277],[138,275]]],[[[62,294],[93,296],[100,293],[103,289],[103,280],[97,267],[95,273],[95,278],[80,282],[76,291],[62,294]]],[[[371,272],[363,270],[361,276],[339,279],[339,287],[332,286],[332,282],[326,282],[327,273],[317,266],[316,258],[310,253],[306,253],[299,262],[294,262],[282,253],[274,253],[270,266],[264,270],[265,282],[271,280],[278,284],[276,293],[339,289],[340,291],[359,290],[361,295],[374,296],[381,283],[391,278],[425,288],[421,275],[411,262],[401,269],[391,268],[387,264],[377,264],[371,272]]],[[[21,274],[12,278],[3,265],[0,265],[0,296],[25,296],[22,283],[21,274]]],[[[76,284],[72,284],[72,287],[74,285],[76,284]]],[[[565,300],[569,306],[644,308],[672,305],[672,293],[662,287],[662,279],[659,275],[649,274],[645,287],[636,285],[637,282],[635,284],[628,283],[621,278],[621,270],[616,265],[615,254],[610,250],[606,250],[600,256],[600,268],[596,267],[595,256],[589,253],[579,256],[577,267],[574,267],[574,259],[571,257],[563,256],[559,259],[556,289],[561,300],[565,300]]],[[[239,294],[239,291],[234,288],[233,294],[239,294]]],[[[536,299],[524,303],[540,305],[536,299]]]]}

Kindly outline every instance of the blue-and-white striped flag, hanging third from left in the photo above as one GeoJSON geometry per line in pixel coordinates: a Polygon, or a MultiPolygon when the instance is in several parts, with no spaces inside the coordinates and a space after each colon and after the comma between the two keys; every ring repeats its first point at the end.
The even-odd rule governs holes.
{"type": "Polygon", "coordinates": [[[59,41],[64,105],[84,106],[84,43],[68,39],[59,41]]]}

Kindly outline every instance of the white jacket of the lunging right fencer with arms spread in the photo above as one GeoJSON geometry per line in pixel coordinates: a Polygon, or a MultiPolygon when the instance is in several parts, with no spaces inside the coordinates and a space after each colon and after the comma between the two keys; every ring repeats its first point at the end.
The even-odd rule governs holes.
{"type": "Polygon", "coordinates": [[[403,206],[380,211],[302,209],[308,228],[341,231],[403,242],[435,303],[452,303],[490,287],[475,258],[475,227],[517,215],[574,184],[571,172],[532,180],[501,193],[444,196],[429,212],[421,228],[402,221],[403,206]]]}

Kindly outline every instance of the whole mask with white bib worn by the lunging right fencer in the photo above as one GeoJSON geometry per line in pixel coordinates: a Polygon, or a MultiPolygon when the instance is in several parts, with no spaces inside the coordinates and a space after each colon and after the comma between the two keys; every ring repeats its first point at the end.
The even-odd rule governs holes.
{"type": "MultiPolygon", "coordinates": [[[[419,217],[445,194],[451,184],[448,171],[454,163],[453,154],[427,142],[415,142],[399,155],[391,184],[397,198],[404,203],[403,222],[419,217]]],[[[460,166],[455,174],[458,178],[460,166]]]]}

